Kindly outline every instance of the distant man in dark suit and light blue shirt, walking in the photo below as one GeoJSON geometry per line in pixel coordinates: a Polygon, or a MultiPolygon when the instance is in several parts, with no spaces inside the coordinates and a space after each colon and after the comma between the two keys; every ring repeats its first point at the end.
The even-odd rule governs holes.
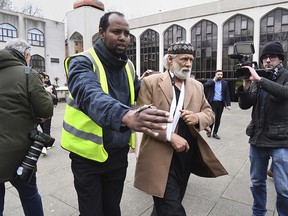
{"type": "Polygon", "coordinates": [[[215,113],[215,123],[210,125],[210,129],[207,130],[207,136],[211,137],[211,131],[213,130],[213,137],[220,139],[218,136],[218,129],[221,122],[222,113],[224,107],[228,110],[231,109],[230,93],[227,81],[223,80],[222,70],[215,72],[215,77],[208,80],[203,85],[205,87],[205,96],[215,113]]]}

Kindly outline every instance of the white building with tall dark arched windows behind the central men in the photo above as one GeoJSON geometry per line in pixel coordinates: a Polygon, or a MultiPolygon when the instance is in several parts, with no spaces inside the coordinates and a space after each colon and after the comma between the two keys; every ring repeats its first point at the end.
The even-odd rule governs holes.
{"type": "MultiPolygon", "coordinates": [[[[74,10],[67,14],[69,55],[92,46],[103,14],[104,5],[98,0],[74,3],[74,10]],[[83,49],[76,50],[79,43],[83,49]]],[[[245,54],[249,62],[258,63],[259,52],[269,41],[280,41],[286,55],[288,51],[288,1],[283,0],[219,0],[128,22],[131,42],[127,53],[139,75],[147,69],[163,71],[162,58],[169,44],[186,40],[195,48],[196,79],[205,81],[222,69],[232,97],[237,85],[234,66],[243,62],[229,58],[236,42],[253,44],[255,54],[245,54]]]]}

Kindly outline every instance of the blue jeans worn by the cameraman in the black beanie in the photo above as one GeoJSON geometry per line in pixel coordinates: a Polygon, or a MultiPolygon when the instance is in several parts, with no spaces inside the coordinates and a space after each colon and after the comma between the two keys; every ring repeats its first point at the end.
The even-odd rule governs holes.
{"type": "Polygon", "coordinates": [[[272,158],[276,207],[279,216],[288,216],[288,148],[263,148],[250,145],[251,192],[254,199],[253,216],[264,216],[267,201],[267,169],[272,158]]]}

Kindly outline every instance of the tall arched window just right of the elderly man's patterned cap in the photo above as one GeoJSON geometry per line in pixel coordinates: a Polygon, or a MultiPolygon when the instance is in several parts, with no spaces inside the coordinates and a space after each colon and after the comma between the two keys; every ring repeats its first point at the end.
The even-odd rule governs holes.
{"type": "Polygon", "coordinates": [[[192,72],[197,79],[212,78],[217,62],[217,26],[202,20],[191,29],[191,43],[195,49],[192,72]]]}

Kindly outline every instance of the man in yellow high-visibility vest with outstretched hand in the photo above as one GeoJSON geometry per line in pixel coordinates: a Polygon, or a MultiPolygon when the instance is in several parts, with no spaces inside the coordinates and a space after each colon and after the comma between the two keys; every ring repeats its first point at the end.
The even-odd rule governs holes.
{"type": "Polygon", "coordinates": [[[124,15],[108,12],[93,48],[65,60],[70,96],[61,146],[70,151],[81,216],[121,215],[133,131],[155,137],[171,122],[150,105],[133,110],[141,81],[125,54],[129,35],[124,15]]]}

